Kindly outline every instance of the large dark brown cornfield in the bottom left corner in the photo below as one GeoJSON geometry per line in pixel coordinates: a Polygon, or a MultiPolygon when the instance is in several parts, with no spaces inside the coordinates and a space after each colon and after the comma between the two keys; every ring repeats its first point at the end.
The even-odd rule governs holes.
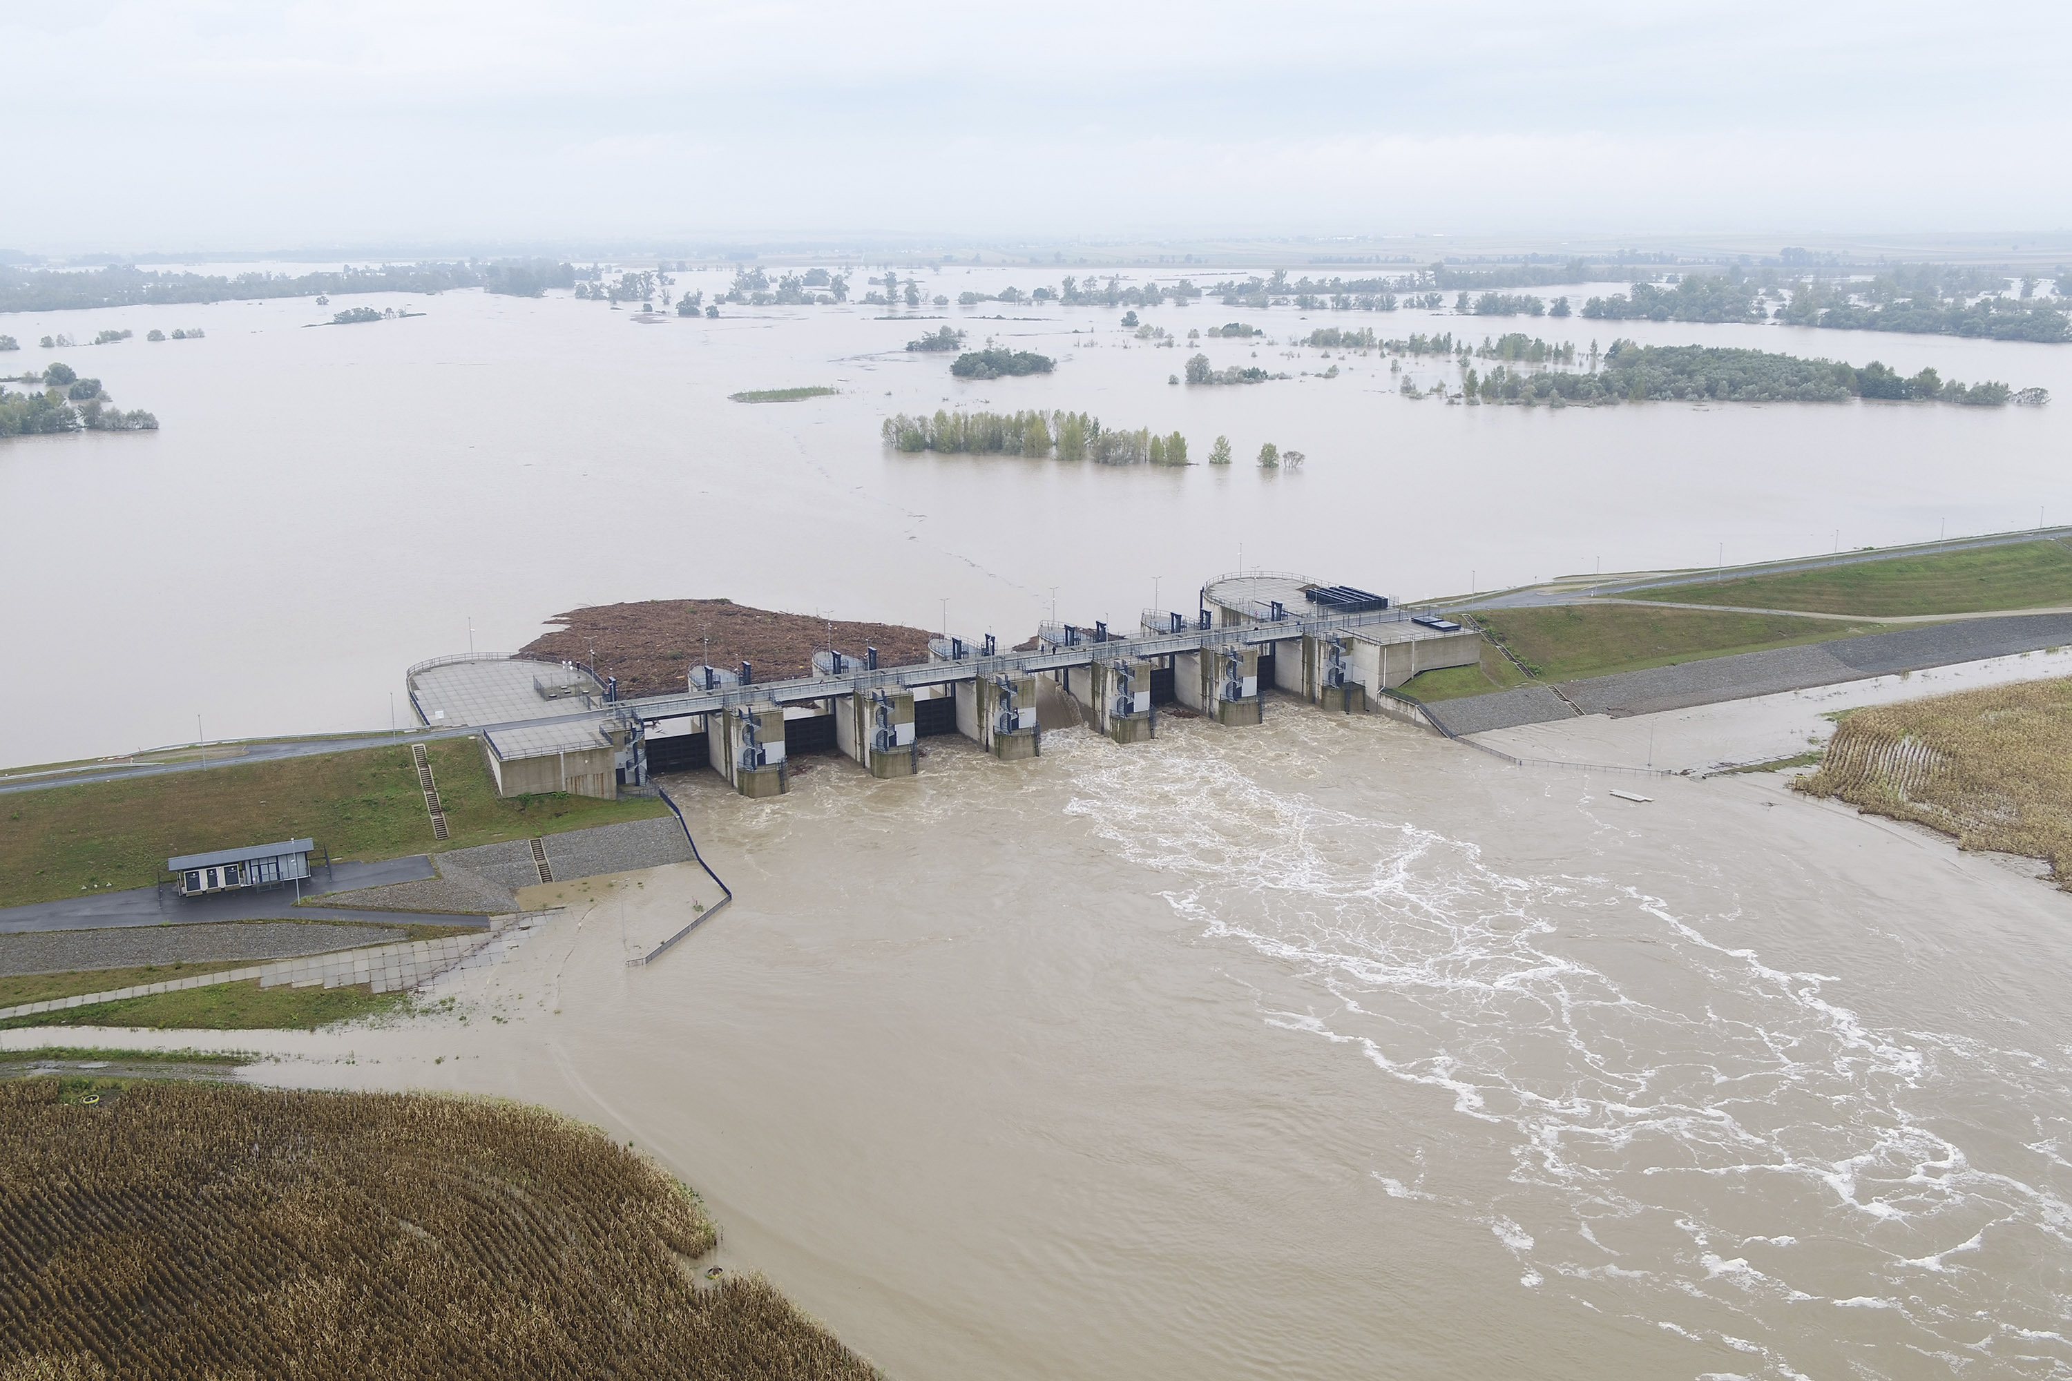
{"type": "Polygon", "coordinates": [[[539,1108],[0,1085],[0,1381],[876,1375],[715,1240],[539,1108]]]}

